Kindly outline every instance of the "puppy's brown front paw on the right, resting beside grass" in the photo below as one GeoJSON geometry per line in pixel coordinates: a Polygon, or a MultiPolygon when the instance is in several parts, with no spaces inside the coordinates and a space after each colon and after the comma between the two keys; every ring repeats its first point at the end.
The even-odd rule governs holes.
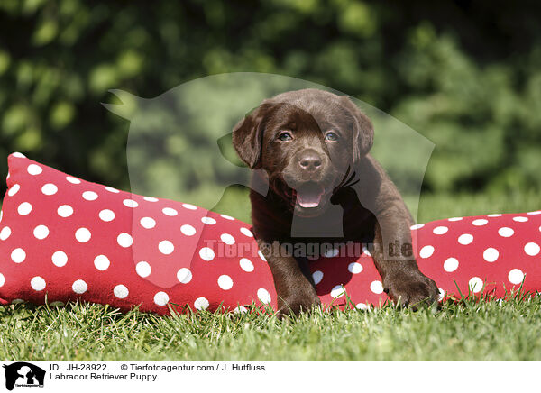
{"type": "Polygon", "coordinates": [[[388,275],[383,282],[383,290],[399,306],[432,305],[437,302],[439,289],[433,279],[427,278],[419,270],[406,270],[388,275]]]}

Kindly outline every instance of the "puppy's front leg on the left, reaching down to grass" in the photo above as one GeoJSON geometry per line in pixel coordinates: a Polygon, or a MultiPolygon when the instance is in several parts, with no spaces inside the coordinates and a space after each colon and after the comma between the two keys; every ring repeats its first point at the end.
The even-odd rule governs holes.
{"type": "Polygon", "coordinates": [[[263,241],[258,243],[271,267],[278,296],[278,317],[298,315],[319,304],[307,260],[296,260],[280,243],[271,247],[263,241]]]}

